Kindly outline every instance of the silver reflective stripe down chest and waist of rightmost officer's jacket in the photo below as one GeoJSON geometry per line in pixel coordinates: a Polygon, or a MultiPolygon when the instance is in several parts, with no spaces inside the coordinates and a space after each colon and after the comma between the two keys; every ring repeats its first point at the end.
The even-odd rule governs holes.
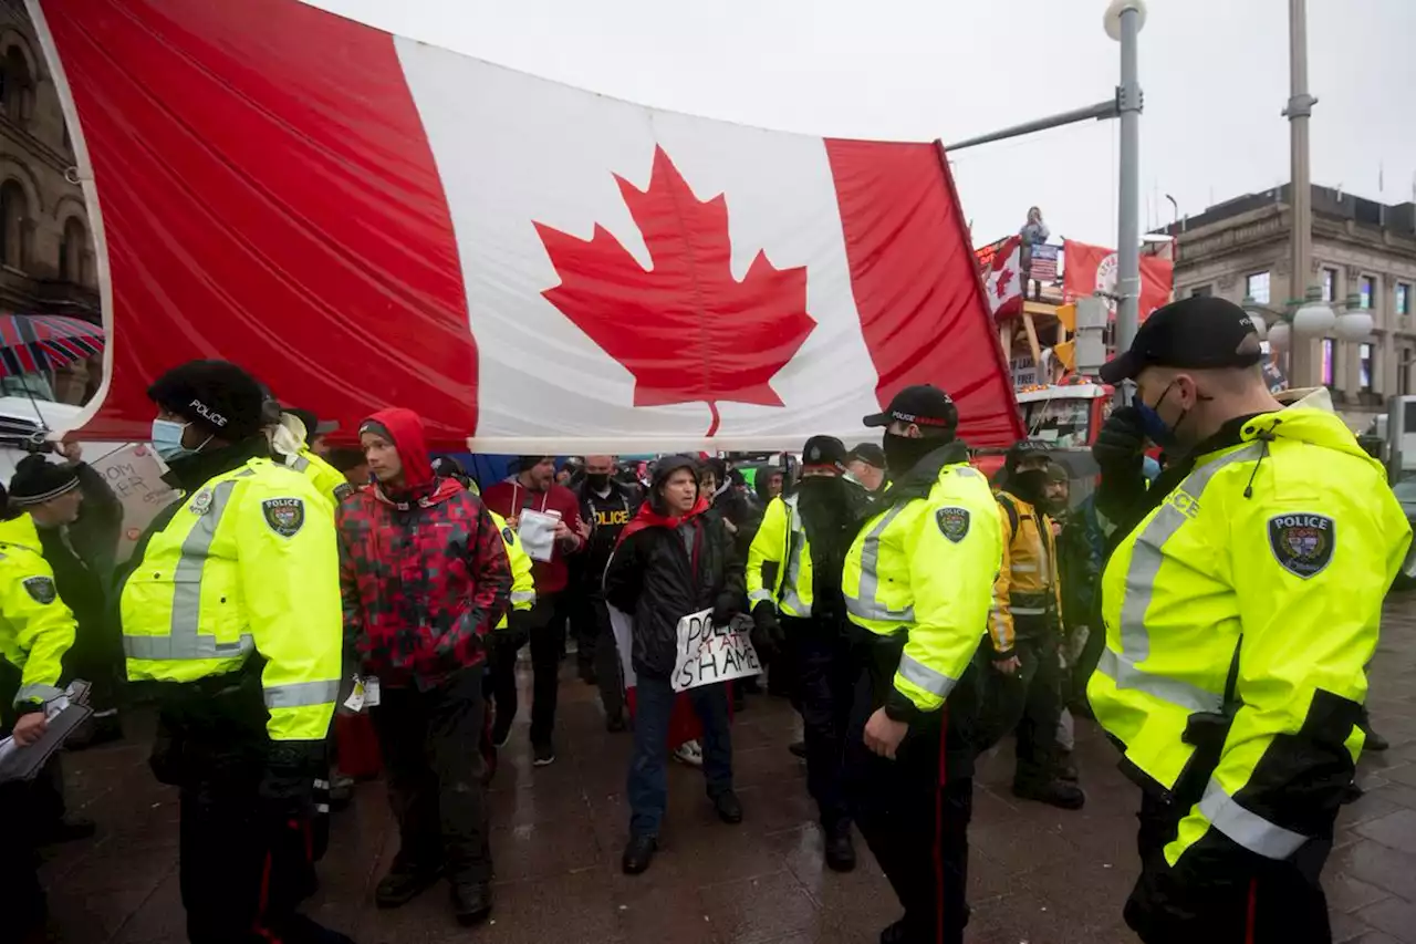
{"type": "Polygon", "coordinates": [[[1163,550],[1165,541],[1174,537],[1185,522],[1199,513],[1199,496],[1204,495],[1205,488],[1221,469],[1235,462],[1259,459],[1263,455],[1262,449],[1263,444],[1253,442],[1191,472],[1175,489],[1184,496],[1188,512],[1181,512],[1177,507],[1172,500],[1174,493],[1165,496],[1160,510],[1136,539],[1131,547],[1130,567],[1126,571],[1126,595],[1121,598],[1121,652],[1114,653],[1107,646],[1099,666],[1112,678],[1117,689],[1137,689],[1187,712],[1216,712],[1222,706],[1223,696],[1219,693],[1208,692],[1181,679],[1151,675],[1138,669],[1137,665],[1150,658],[1150,632],[1146,629],[1146,614],[1155,595],[1155,575],[1165,558],[1163,550]]]}

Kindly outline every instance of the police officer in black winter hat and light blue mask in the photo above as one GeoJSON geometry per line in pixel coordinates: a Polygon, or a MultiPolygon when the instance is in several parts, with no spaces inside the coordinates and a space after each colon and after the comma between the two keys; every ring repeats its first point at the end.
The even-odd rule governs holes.
{"type": "Polygon", "coordinates": [[[153,770],[181,788],[187,935],[348,941],[296,914],[340,682],[331,505],[270,459],[262,390],[241,367],[191,361],[147,395],[183,495],[140,539],[120,611],[127,676],[157,695],[153,770]]]}

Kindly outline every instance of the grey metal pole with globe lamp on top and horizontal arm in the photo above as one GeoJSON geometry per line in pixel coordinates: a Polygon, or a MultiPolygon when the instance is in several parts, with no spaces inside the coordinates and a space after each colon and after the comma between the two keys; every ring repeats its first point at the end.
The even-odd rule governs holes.
{"type": "Polygon", "coordinates": [[[1140,4],[1121,10],[1121,84],[1116,102],[1121,113],[1120,218],[1116,234],[1117,278],[1116,349],[1126,350],[1136,339],[1141,303],[1141,84],[1136,65],[1140,35],[1140,4]]]}

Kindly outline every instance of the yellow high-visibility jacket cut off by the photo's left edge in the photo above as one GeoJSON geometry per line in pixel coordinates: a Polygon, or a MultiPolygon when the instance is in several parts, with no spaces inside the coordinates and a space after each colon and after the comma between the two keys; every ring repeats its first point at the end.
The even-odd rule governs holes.
{"type": "Polygon", "coordinates": [[[59,600],[34,519],[0,522],[0,656],[20,669],[16,704],[62,695],[59,662],[74,645],[74,614],[59,600]]]}

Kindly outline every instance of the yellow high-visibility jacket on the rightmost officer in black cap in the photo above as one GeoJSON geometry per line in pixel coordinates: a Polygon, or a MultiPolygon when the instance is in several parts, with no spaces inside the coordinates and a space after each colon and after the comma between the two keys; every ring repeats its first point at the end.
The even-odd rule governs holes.
{"type": "Polygon", "coordinates": [[[1165,848],[1172,866],[1197,846],[1195,860],[1235,845],[1284,860],[1330,835],[1409,543],[1381,462],[1323,391],[1242,422],[1112,556],[1087,696],[1134,770],[1202,790],[1165,848]],[[1195,714],[1232,716],[1214,770],[1191,767],[1195,714]]]}

